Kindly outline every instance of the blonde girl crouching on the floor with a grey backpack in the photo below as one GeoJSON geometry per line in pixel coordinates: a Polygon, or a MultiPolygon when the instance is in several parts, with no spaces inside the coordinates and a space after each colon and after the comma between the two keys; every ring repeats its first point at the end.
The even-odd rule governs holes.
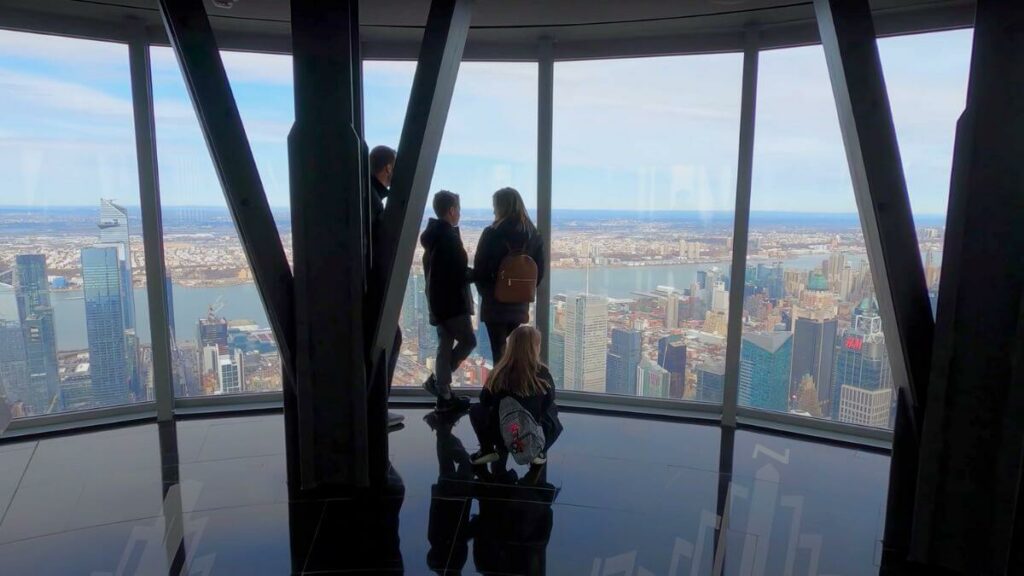
{"type": "Polygon", "coordinates": [[[505,356],[480,390],[480,403],[469,410],[480,449],[470,456],[473,465],[512,454],[519,464],[537,471],[548,460],[548,449],[562,431],[555,406],[555,384],[541,363],[541,332],[519,326],[509,335],[505,356]]]}

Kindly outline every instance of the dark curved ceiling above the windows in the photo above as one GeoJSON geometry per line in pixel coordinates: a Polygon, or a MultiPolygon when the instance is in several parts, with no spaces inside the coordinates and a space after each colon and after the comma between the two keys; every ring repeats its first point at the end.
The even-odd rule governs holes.
{"type": "MultiPolygon", "coordinates": [[[[223,47],[286,51],[288,0],[204,0],[223,47]],[[224,7],[230,5],[230,7],[224,7]]],[[[880,35],[970,26],[974,0],[871,0],[880,35]]],[[[362,0],[368,57],[413,57],[430,0],[362,0]]],[[[157,0],[4,0],[0,27],[165,42],[157,0]],[[133,24],[134,23],[134,24],[133,24]]],[[[550,40],[560,58],[735,50],[817,41],[809,0],[475,0],[467,58],[530,58],[550,40]]]]}

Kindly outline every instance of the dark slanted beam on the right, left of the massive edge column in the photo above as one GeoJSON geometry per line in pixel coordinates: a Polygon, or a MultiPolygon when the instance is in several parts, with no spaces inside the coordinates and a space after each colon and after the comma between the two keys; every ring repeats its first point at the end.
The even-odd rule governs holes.
{"type": "Polygon", "coordinates": [[[934,323],[867,0],[814,0],[898,395],[884,557],[904,558],[934,323]]]}

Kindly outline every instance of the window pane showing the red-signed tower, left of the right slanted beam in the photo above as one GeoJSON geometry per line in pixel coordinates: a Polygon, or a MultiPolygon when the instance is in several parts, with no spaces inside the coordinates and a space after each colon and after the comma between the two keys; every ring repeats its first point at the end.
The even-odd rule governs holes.
{"type": "Polygon", "coordinates": [[[739,405],[890,427],[892,370],[824,52],[761,52],[739,405]]]}

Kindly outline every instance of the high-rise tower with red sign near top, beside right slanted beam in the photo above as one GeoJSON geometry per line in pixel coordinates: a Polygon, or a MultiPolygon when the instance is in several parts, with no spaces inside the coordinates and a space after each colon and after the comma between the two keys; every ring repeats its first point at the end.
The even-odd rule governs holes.
{"type": "Polygon", "coordinates": [[[865,298],[836,353],[831,417],[841,422],[887,426],[892,410],[892,369],[878,304],[865,298]]]}

